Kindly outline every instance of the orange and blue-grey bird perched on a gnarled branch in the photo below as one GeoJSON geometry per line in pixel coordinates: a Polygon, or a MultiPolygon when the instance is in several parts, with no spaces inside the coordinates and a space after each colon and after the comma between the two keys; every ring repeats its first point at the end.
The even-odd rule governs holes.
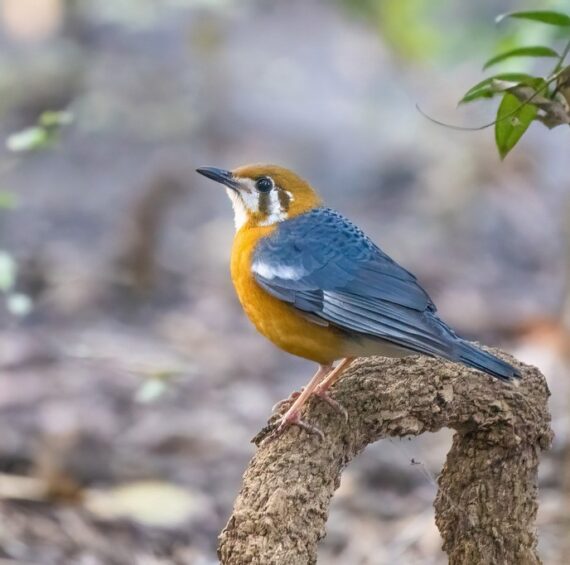
{"type": "Polygon", "coordinates": [[[459,337],[417,278],[293,171],[265,164],[196,171],[223,185],[233,205],[231,278],[246,315],[277,347],[318,365],[292,394],[273,437],[291,425],[323,437],[302,418],[312,396],[346,417],[329,390],[360,357],[425,355],[499,381],[520,378],[515,367],[459,337]]]}

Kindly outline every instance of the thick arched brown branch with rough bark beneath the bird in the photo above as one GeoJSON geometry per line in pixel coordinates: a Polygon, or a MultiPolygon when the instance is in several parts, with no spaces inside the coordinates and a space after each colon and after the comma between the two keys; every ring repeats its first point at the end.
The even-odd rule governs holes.
{"type": "Polygon", "coordinates": [[[221,562],[316,563],[347,463],[379,439],[449,427],[456,433],[435,500],[449,562],[540,563],[534,522],[539,454],[552,437],[549,392],[537,369],[508,360],[523,373],[518,386],[438,359],[357,361],[333,389],[348,423],[313,399],[306,419],[324,441],[291,428],[259,447],[220,535],[221,562]]]}

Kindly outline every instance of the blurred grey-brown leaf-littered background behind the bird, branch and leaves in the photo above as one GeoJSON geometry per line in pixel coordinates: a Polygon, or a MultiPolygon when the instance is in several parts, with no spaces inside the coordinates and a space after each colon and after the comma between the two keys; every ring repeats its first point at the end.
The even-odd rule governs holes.
{"type": "MultiPolygon", "coordinates": [[[[249,162],[299,172],[458,332],[545,373],[540,547],[568,562],[568,130],[532,125],[501,163],[492,129],[416,109],[491,121],[494,101],[456,107],[482,62],[556,46],[494,17],[548,7],[568,8],[0,2],[1,563],[217,562],[250,439],[313,371],[245,319],[230,204],[194,173],[249,162]]],[[[319,563],[445,563],[432,502],[450,437],[353,462],[319,563]]]]}

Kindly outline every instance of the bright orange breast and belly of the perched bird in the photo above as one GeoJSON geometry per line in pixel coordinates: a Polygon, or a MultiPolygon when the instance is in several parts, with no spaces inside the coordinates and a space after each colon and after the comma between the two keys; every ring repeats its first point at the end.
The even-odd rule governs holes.
{"type": "Polygon", "coordinates": [[[245,313],[261,334],[288,353],[323,364],[344,357],[344,339],[338,330],[308,321],[293,306],[274,298],[255,281],[251,272],[255,246],[274,229],[248,226],[236,234],[232,281],[245,313]]]}

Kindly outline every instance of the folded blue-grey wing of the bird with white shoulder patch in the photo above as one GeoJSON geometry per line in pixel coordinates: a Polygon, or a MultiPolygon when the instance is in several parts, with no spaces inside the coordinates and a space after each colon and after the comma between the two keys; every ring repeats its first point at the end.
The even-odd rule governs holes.
{"type": "Polygon", "coordinates": [[[271,295],[349,332],[430,355],[447,354],[455,337],[416,278],[328,208],[282,222],[252,270],[271,295]]]}

